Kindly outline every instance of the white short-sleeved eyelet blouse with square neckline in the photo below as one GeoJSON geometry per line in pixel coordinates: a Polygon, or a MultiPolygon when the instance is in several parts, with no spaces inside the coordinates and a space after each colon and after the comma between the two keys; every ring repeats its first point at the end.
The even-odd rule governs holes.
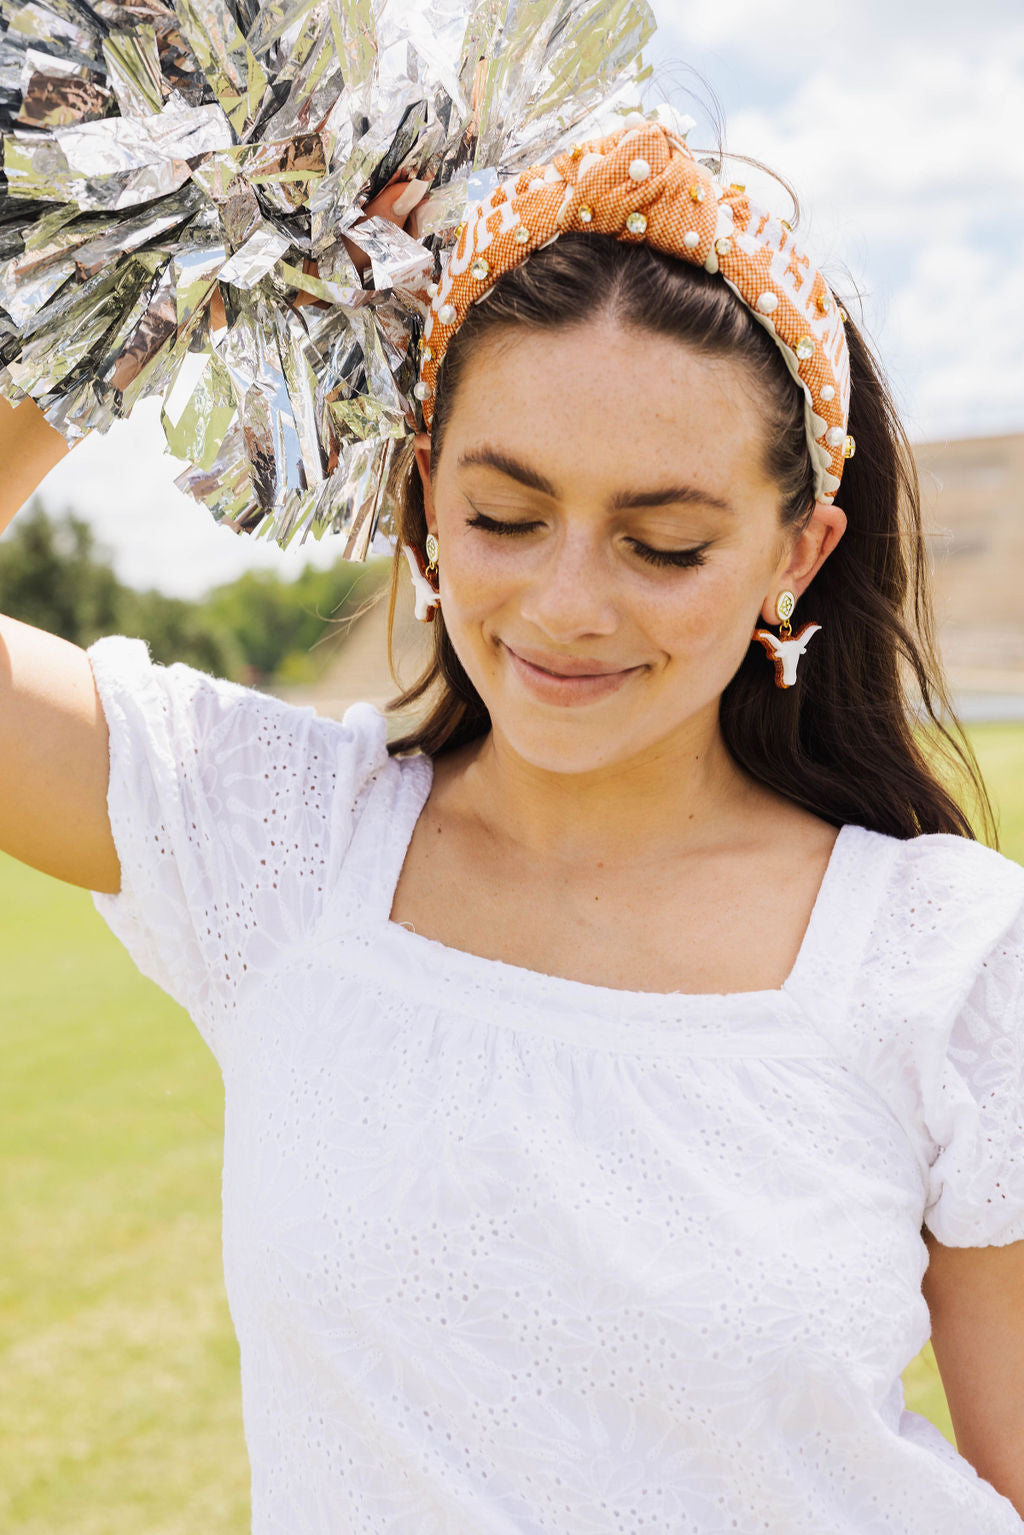
{"type": "Polygon", "coordinates": [[[95,904],[226,1088],[256,1535],[1021,1535],[904,1408],[926,1223],[1024,1239],[1024,870],[844,826],[785,985],[617,992],[390,921],[431,783],[91,649],[95,904]]]}

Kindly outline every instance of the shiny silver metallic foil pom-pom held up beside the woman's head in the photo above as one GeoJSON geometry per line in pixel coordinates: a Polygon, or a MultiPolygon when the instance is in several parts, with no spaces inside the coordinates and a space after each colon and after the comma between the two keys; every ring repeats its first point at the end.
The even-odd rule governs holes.
{"type": "Polygon", "coordinates": [[[0,0],[0,394],[163,399],[239,533],[393,534],[428,286],[470,203],[640,104],[646,0],[0,0]],[[418,181],[416,238],[364,209],[418,181]]]}

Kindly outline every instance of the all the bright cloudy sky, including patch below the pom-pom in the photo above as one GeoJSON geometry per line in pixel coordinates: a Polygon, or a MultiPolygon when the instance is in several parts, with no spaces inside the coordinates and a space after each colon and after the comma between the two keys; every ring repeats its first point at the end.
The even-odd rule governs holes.
{"type": "MultiPolygon", "coordinates": [[[[712,147],[709,86],[726,150],[795,186],[800,238],[854,299],[910,437],[1024,431],[1019,0],[654,0],[654,11],[648,103],[672,100],[699,121],[691,144],[712,147]]],[[[789,216],[771,178],[726,170],[789,216]]],[[[218,528],[175,490],[157,414],[143,402],[43,487],[54,510],[89,517],[124,580],[193,597],[246,568],[298,573],[336,557],[330,539],[282,553],[218,528]]]]}

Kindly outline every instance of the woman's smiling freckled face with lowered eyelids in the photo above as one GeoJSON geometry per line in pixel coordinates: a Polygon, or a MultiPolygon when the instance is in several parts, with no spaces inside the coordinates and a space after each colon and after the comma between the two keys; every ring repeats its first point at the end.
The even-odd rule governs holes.
{"type": "Polygon", "coordinates": [[[471,358],[433,485],[425,437],[418,460],[447,631],[525,761],[588,772],[715,728],[821,542],[783,539],[760,431],[740,364],[609,321],[471,358]]]}

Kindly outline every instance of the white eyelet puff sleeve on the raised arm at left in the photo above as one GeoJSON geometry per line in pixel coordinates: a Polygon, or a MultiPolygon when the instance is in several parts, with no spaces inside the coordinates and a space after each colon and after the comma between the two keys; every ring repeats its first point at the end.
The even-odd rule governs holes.
{"type": "Polygon", "coordinates": [[[107,809],[121,863],[97,910],[218,1055],[241,978],[315,930],[385,721],[342,723],[184,665],[141,640],[89,649],[111,735],[107,809]]]}

